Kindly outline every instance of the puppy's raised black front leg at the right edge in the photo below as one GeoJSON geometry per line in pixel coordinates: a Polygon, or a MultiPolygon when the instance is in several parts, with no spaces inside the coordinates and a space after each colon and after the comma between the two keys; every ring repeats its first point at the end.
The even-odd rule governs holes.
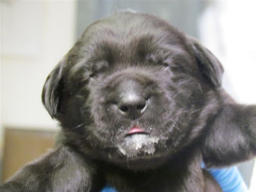
{"type": "Polygon", "coordinates": [[[206,166],[228,166],[256,156],[256,106],[225,102],[204,134],[206,166]]]}

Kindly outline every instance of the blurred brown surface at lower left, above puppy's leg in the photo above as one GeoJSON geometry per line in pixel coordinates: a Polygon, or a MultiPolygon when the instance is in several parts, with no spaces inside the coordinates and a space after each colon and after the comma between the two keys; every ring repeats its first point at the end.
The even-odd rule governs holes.
{"type": "Polygon", "coordinates": [[[5,129],[2,180],[54,146],[54,131],[5,129]]]}

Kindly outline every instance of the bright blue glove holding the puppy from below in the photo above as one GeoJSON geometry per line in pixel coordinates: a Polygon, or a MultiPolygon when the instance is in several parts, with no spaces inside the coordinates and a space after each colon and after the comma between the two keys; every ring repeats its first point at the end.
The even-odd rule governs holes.
{"type": "MultiPolygon", "coordinates": [[[[202,165],[204,166],[204,164],[202,165]]],[[[241,176],[238,168],[232,166],[230,168],[209,169],[214,179],[220,184],[224,192],[246,192],[248,188],[241,176]]],[[[101,192],[117,192],[114,188],[106,186],[101,192]]]]}

